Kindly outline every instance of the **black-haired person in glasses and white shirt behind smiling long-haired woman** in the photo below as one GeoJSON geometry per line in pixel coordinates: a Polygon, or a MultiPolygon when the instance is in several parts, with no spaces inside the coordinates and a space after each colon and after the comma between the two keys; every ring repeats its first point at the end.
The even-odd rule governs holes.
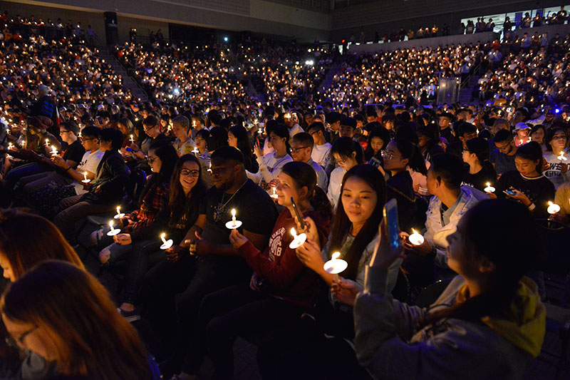
{"type": "Polygon", "coordinates": [[[338,196],[341,194],[343,178],[348,170],[363,163],[364,155],[360,144],[348,137],[338,138],[331,148],[331,156],[338,164],[338,168],[331,173],[328,182],[328,200],[333,208],[338,204],[338,196]]]}

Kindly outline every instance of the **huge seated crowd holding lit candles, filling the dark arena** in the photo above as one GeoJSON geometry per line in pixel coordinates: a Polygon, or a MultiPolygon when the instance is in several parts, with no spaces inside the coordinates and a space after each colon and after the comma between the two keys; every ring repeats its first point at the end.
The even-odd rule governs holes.
{"type": "Polygon", "coordinates": [[[150,101],[81,39],[3,41],[0,377],[231,379],[241,337],[264,379],[521,378],[538,225],[570,222],[556,41],[348,56],[326,91],[321,47],[117,46],[150,101]],[[486,103],[429,104],[463,66],[486,103]]]}

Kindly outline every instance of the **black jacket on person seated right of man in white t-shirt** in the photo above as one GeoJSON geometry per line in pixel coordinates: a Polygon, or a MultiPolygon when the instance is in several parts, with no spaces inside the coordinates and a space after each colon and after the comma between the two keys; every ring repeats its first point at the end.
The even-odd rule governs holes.
{"type": "Polygon", "coordinates": [[[129,180],[127,165],[117,150],[107,150],[101,158],[95,180],[82,201],[115,205],[123,199],[125,185],[129,180]],[[95,190],[100,189],[97,194],[95,190]]]}

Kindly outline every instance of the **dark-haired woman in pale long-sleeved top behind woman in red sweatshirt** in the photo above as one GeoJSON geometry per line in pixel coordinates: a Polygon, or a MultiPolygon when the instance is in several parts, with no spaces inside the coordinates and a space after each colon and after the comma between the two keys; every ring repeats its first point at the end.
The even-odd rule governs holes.
{"type": "Polygon", "coordinates": [[[275,149],[274,153],[263,155],[263,150],[256,144],[254,147],[259,171],[257,173],[247,173],[247,178],[269,190],[271,181],[276,180],[281,172],[281,168],[286,163],[290,163],[293,158],[289,155],[289,130],[284,125],[277,125],[269,133],[269,143],[275,149]]]}

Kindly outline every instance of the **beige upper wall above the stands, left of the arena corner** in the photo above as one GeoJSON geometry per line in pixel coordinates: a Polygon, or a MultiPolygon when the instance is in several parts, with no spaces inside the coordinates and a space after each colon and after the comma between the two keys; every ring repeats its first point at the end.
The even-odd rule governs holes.
{"type": "Polygon", "coordinates": [[[14,14],[34,14],[36,18],[45,11],[54,15],[52,18],[69,14],[73,20],[88,19],[93,29],[94,24],[100,26],[95,29],[100,36],[104,36],[103,12],[115,11],[120,40],[128,38],[131,26],[137,27],[140,34],[144,29],[161,28],[167,37],[167,23],[172,22],[229,31],[296,35],[299,41],[314,41],[314,38],[327,41],[332,17],[263,0],[10,0],[1,1],[0,8],[14,14]],[[83,14],[76,13],[79,11],[83,14]]]}

